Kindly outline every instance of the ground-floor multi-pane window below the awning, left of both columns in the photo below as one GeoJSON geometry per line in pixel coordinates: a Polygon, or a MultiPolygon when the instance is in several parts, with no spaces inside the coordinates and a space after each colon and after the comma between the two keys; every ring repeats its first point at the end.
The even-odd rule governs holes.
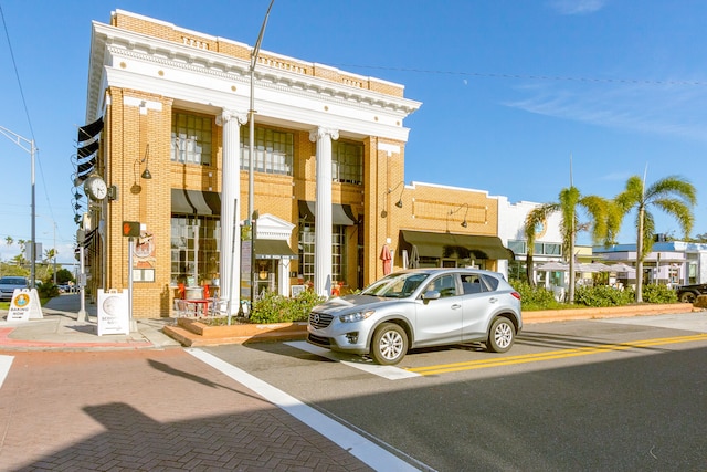
{"type": "Polygon", "coordinates": [[[171,219],[171,283],[201,284],[219,277],[219,219],[175,214],[171,219]]]}

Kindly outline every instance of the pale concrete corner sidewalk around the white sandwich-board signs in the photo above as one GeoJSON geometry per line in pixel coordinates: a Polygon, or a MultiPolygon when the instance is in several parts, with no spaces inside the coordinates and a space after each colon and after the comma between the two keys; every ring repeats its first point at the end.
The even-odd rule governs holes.
{"type": "Polygon", "coordinates": [[[96,305],[86,303],[86,319],[78,321],[78,294],[62,294],[42,306],[43,318],[8,322],[7,311],[0,311],[1,349],[82,350],[82,349],[150,349],[179,347],[179,342],[162,333],[171,318],[137,319],[130,334],[98,336],[96,305]]]}

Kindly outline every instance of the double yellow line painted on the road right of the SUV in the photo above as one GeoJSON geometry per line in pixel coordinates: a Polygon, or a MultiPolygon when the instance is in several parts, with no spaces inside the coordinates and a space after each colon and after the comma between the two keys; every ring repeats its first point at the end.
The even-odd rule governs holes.
{"type": "Polygon", "coordinates": [[[537,354],[525,354],[519,356],[496,357],[492,359],[469,360],[466,363],[441,364],[428,367],[413,367],[410,370],[423,376],[455,373],[461,370],[484,369],[488,367],[510,366],[515,364],[537,363],[541,360],[562,359],[567,357],[588,356],[590,354],[601,354],[615,350],[641,349],[666,344],[692,343],[696,340],[707,340],[707,333],[690,335],[663,337],[654,339],[635,340],[631,343],[603,344],[597,346],[578,347],[574,349],[548,350],[537,354]]]}

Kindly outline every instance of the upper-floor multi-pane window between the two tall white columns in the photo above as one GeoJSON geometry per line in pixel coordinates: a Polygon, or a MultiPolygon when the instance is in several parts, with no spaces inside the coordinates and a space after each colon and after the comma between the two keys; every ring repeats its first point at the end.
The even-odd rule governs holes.
{"type": "MultiPolygon", "coordinates": [[[[251,153],[251,129],[241,126],[241,169],[249,170],[251,153]]],[[[253,140],[255,155],[253,170],[265,174],[292,176],[295,155],[295,135],[275,129],[255,127],[253,140]]]]}

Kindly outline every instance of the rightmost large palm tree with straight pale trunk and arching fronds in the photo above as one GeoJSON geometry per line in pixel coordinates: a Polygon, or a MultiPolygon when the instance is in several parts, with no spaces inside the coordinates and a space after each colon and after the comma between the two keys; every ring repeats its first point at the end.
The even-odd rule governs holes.
{"type": "Polygon", "coordinates": [[[636,210],[636,303],[643,302],[643,261],[653,249],[655,220],[651,207],[674,217],[685,233],[689,235],[695,217],[693,207],[697,203],[697,191],[679,176],[665,177],[650,187],[639,176],[630,177],[626,188],[614,199],[623,217],[636,210]]]}

